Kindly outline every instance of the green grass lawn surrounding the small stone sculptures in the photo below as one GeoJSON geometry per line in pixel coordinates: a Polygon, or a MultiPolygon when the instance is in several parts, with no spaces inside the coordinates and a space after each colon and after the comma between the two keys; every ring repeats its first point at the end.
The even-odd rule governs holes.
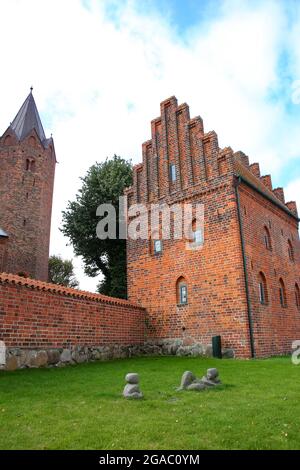
{"type": "Polygon", "coordinates": [[[0,372],[0,449],[299,449],[300,366],[137,358],[0,372]],[[176,392],[185,370],[222,386],[176,392]],[[138,372],[145,398],[122,398],[138,372]]]}

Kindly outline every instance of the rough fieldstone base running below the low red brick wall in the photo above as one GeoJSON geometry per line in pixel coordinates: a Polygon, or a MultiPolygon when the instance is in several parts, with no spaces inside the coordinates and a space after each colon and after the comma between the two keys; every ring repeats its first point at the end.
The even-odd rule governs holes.
{"type": "MultiPolygon", "coordinates": [[[[200,343],[184,346],[183,340],[180,339],[147,341],[144,344],[130,346],[70,346],[68,348],[51,349],[7,348],[6,364],[0,365],[0,370],[65,367],[66,365],[82,364],[83,362],[108,361],[139,356],[211,357],[212,348],[200,343]]],[[[224,349],[223,357],[233,358],[234,351],[224,349]]]]}

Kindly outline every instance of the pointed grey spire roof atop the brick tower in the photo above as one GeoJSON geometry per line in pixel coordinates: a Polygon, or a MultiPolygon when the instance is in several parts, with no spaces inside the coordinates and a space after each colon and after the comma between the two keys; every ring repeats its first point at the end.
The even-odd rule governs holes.
{"type": "Polygon", "coordinates": [[[29,95],[22,104],[10,127],[16,133],[16,136],[20,141],[23,140],[29,132],[35,129],[41,141],[44,142],[46,140],[46,136],[33,98],[32,90],[33,88],[31,87],[29,95]]]}

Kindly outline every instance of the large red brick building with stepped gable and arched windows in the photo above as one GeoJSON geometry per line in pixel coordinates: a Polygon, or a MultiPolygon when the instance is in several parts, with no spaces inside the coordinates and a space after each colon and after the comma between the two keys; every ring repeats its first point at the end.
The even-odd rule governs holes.
{"type": "Polygon", "coordinates": [[[290,352],[300,339],[295,202],[245,154],[219,148],[175,97],[151,130],[129,206],[202,203],[204,230],[191,240],[128,240],[129,300],[147,309],[149,338],[173,353],[181,345],[180,354],[207,353],[214,335],[239,357],[290,352]]]}

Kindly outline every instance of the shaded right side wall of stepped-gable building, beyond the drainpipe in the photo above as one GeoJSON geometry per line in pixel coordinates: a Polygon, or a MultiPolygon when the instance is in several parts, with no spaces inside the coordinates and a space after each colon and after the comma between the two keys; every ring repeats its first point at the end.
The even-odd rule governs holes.
{"type": "Polygon", "coordinates": [[[251,188],[239,189],[255,348],[258,356],[289,353],[292,342],[300,339],[300,306],[296,305],[295,285],[300,287],[300,243],[298,223],[251,188]],[[270,236],[267,249],[265,235],[270,236]],[[289,244],[293,246],[293,260],[289,244]],[[266,304],[260,303],[259,282],[263,273],[267,284],[266,304]],[[282,307],[279,280],[286,288],[287,305],[282,307]]]}

